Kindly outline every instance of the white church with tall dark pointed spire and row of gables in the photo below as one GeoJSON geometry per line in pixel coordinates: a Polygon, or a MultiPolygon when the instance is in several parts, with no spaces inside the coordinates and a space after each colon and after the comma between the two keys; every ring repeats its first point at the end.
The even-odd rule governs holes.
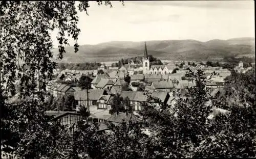
{"type": "Polygon", "coordinates": [[[169,74],[176,68],[175,65],[152,65],[150,67],[150,59],[147,57],[147,47],[145,42],[144,56],[142,58],[143,74],[169,74]]]}

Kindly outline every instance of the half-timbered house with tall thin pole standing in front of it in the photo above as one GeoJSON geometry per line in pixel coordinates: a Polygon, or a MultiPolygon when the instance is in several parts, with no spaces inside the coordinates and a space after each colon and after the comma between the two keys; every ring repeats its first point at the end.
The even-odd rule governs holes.
{"type": "Polygon", "coordinates": [[[87,90],[76,91],[74,96],[76,100],[77,107],[87,107],[92,105],[96,105],[97,100],[101,95],[105,94],[104,90],[88,90],[88,97],[87,97],[87,90]]]}

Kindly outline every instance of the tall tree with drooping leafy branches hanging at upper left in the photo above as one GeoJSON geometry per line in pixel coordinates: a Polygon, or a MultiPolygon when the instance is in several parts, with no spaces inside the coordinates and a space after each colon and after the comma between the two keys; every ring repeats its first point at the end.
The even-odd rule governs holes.
{"type": "MultiPolygon", "coordinates": [[[[98,2],[99,5],[102,4],[98,2]]],[[[111,5],[108,1],[106,5],[111,5]]],[[[23,96],[31,95],[32,85],[45,90],[45,80],[51,80],[56,63],[50,30],[57,29],[58,58],[62,59],[68,38],[77,40],[78,16],[75,2],[1,2],[1,88],[15,94],[14,79],[21,79],[23,96]],[[18,22],[17,22],[18,21],[18,22]],[[13,44],[15,41],[15,44],[13,44]]],[[[79,11],[87,12],[88,1],[80,2],[79,11]]],[[[74,44],[75,52],[78,44],[74,44]]]]}

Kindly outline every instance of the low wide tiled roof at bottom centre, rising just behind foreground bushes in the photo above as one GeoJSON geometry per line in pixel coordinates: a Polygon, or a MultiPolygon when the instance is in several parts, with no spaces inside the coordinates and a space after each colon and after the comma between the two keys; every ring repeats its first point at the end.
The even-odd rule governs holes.
{"type": "Polygon", "coordinates": [[[133,114],[128,113],[126,115],[126,113],[122,113],[122,112],[119,112],[118,114],[117,113],[113,114],[107,120],[111,121],[111,122],[116,122],[116,123],[122,123],[122,122],[129,123],[130,121],[132,121],[134,123],[134,122],[140,122],[141,121],[138,117],[136,117],[133,114]]]}

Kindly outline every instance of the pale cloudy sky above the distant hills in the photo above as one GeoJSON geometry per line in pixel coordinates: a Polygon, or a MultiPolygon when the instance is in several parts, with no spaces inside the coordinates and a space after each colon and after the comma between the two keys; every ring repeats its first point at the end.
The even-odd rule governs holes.
{"type": "MultiPolygon", "coordinates": [[[[254,1],[124,1],[110,6],[89,2],[78,11],[78,44],[109,41],[208,41],[254,37],[254,1]]],[[[57,46],[57,32],[52,32],[57,46]]],[[[74,40],[70,39],[70,45],[74,40]]]]}

